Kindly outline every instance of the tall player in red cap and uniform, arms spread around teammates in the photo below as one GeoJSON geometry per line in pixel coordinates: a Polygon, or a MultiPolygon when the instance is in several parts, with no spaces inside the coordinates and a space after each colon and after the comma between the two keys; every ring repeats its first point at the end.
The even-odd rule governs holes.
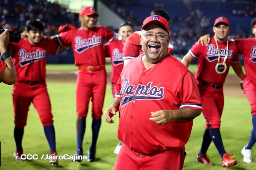
{"type": "MultiPolygon", "coordinates": [[[[92,101],[92,143],[88,162],[95,161],[96,142],[101,125],[102,108],[106,91],[104,41],[115,39],[115,33],[103,26],[95,26],[99,14],[93,7],[84,7],[79,13],[81,28],[60,33],[54,40],[62,46],[72,46],[75,65],[78,66],[76,85],[77,155],[83,155],[88,105],[92,101]]],[[[82,160],[76,160],[81,162],[82,160]]]]}

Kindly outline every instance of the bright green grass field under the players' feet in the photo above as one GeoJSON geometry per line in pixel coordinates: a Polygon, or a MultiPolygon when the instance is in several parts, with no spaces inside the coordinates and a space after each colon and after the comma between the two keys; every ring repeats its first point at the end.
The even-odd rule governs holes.
{"type": "MultiPolygon", "coordinates": [[[[48,67],[49,68],[49,67],[48,67]]],[[[55,68],[55,66],[53,66],[55,68]]],[[[61,67],[59,67],[61,68],[61,67]]],[[[71,66],[70,66],[71,68],[71,66]]],[[[63,69],[59,69],[63,70],[63,69]]],[[[231,69],[232,70],[232,69],[231,69]]],[[[48,160],[25,160],[16,161],[13,157],[15,142],[13,137],[14,113],[12,107],[12,86],[0,84],[0,140],[2,166],[0,169],[86,169],[86,170],[110,170],[113,169],[117,155],[113,151],[118,144],[117,127],[118,117],[114,124],[108,124],[102,118],[102,127],[97,143],[97,162],[81,163],[71,160],[59,160],[59,166],[48,164],[48,160]]],[[[52,103],[54,126],[56,131],[57,152],[59,155],[73,155],[76,150],[76,107],[75,107],[75,83],[48,83],[48,92],[52,103]]],[[[104,108],[112,102],[110,85],[107,86],[104,108]]],[[[90,111],[87,117],[87,129],[84,137],[84,151],[86,152],[91,141],[91,117],[90,111]]],[[[200,149],[205,121],[202,115],[194,120],[194,125],[189,142],[186,144],[187,156],[184,170],[219,170],[221,159],[212,143],[207,154],[215,166],[206,166],[195,162],[195,157],[200,149]]],[[[221,133],[225,149],[238,161],[238,164],[229,169],[254,170],[256,169],[255,147],[252,149],[253,163],[243,162],[241,149],[246,145],[251,133],[251,114],[249,102],[245,98],[225,97],[225,106],[222,117],[221,133]]],[[[23,149],[25,154],[49,154],[48,143],[44,135],[43,126],[39,116],[30,106],[27,126],[23,137],[23,149]]]]}

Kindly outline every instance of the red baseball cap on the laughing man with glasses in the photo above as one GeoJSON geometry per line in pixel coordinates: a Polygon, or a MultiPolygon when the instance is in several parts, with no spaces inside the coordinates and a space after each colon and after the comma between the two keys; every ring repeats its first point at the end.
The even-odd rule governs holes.
{"type": "Polygon", "coordinates": [[[150,24],[156,24],[165,29],[169,34],[169,26],[168,22],[165,18],[159,16],[159,15],[152,15],[150,17],[147,17],[142,24],[141,30],[143,30],[147,25],[150,24]]]}

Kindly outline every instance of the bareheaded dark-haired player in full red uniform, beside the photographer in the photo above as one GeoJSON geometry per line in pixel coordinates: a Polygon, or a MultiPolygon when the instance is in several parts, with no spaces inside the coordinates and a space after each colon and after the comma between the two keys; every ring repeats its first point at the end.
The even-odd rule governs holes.
{"type": "MultiPolygon", "coordinates": [[[[17,82],[13,86],[14,138],[16,160],[23,154],[22,138],[26,126],[28,109],[33,103],[44,127],[45,136],[50,146],[51,156],[57,155],[55,130],[51,102],[46,88],[46,56],[58,54],[59,44],[43,36],[44,24],[31,19],[26,24],[27,39],[12,42],[12,57],[17,72],[17,82]]],[[[56,157],[54,157],[56,158],[56,157]]],[[[51,159],[50,164],[58,165],[58,159],[51,159]]]]}

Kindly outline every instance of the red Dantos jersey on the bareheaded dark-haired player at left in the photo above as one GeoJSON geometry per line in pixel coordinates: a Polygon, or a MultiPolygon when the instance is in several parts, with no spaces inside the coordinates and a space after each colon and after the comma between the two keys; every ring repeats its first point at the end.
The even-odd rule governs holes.
{"type": "Polygon", "coordinates": [[[40,81],[46,78],[46,56],[57,55],[59,44],[53,40],[43,37],[35,45],[28,40],[21,39],[20,42],[12,42],[12,58],[15,65],[17,81],[40,81]]]}

